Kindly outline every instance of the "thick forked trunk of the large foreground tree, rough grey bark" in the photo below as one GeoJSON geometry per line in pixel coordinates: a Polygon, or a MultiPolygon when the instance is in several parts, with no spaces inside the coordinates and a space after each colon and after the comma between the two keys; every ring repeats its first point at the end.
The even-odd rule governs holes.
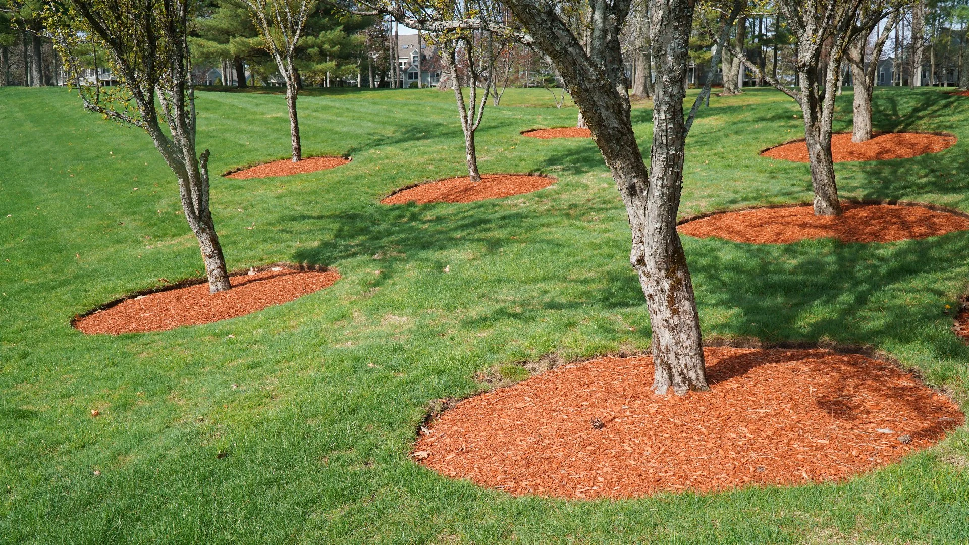
{"type": "Polygon", "coordinates": [[[672,388],[680,395],[707,390],[693,285],[675,226],[682,187],[692,2],[651,0],[651,43],[657,57],[651,171],[633,133],[618,41],[629,4],[593,4],[593,39],[586,53],[553,8],[530,0],[505,3],[568,83],[626,207],[632,232],[630,262],[640,276],[652,325],[653,390],[666,394],[672,388]]]}

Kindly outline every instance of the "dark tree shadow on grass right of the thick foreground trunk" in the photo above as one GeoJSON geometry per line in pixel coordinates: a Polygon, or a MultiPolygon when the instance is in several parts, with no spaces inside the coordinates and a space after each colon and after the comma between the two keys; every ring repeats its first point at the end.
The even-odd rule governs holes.
{"type": "MultiPolygon", "coordinates": [[[[961,266],[958,257],[969,251],[969,236],[956,233],[891,244],[687,239],[685,245],[701,314],[707,310],[731,316],[714,326],[715,333],[771,341],[829,337],[878,345],[915,341],[922,336],[916,330],[942,316],[942,304],[956,294],[947,293],[938,281],[914,279],[938,280],[939,271],[953,271],[954,279],[961,266]]],[[[965,350],[955,337],[951,340],[936,343],[936,355],[964,357],[965,350]]]]}

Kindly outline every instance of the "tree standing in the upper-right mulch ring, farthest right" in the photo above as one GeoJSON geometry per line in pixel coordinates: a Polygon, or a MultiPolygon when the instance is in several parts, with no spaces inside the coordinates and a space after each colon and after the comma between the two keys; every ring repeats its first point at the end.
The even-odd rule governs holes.
{"type": "MultiPolygon", "coordinates": [[[[883,8],[877,4],[868,4],[864,10],[883,8]]],[[[860,20],[866,21],[868,25],[855,29],[856,38],[848,46],[845,52],[845,60],[851,65],[852,82],[855,86],[855,99],[853,105],[854,125],[852,127],[851,141],[854,143],[867,142],[871,140],[871,95],[875,89],[875,75],[878,70],[878,60],[882,56],[891,36],[891,31],[901,16],[901,10],[891,13],[881,32],[875,36],[871,51],[868,51],[868,42],[872,31],[875,30],[881,19],[860,15],[860,20]],[[874,24],[871,24],[874,21],[874,24]],[[865,65],[865,62],[868,64],[865,65]]]]}

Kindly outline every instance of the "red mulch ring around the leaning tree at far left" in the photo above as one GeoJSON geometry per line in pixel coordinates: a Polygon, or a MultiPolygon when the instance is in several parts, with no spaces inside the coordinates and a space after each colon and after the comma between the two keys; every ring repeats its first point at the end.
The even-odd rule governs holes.
{"type": "Polygon", "coordinates": [[[165,331],[235,318],[266,306],[289,303],[333,284],[340,278],[326,268],[300,271],[286,264],[230,276],[233,288],[208,293],[205,279],[118,300],[78,317],[72,324],[86,334],[165,331]]]}

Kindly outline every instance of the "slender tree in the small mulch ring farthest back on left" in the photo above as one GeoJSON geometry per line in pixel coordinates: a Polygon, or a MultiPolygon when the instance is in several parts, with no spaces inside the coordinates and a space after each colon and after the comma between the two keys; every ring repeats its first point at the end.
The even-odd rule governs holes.
{"type": "Polygon", "coordinates": [[[302,159],[299,142],[297,96],[301,82],[296,66],[296,51],[306,18],[315,8],[311,0],[242,0],[248,6],[253,22],[266,41],[279,74],[286,81],[286,107],[290,114],[290,141],[293,162],[302,159]]]}

